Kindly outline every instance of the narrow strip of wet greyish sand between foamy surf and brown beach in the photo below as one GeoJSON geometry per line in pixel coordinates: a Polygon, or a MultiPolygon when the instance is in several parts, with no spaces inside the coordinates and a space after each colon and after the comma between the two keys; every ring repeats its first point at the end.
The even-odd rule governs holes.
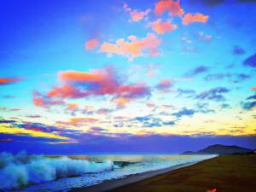
{"type": "MultiPolygon", "coordinates": [[[[216,157],[213,157],[211,159],[214,159],[214,158],[216,158],[216,157]]],[[[211,159],[208,159],[208,160],[211,160],[211,159]]],[[[123,187],[123,186],[131,184],[131,183],[140,182],[140,181],[150,178],[150,177],[159,176],[166,172],[172,172],[174,170],[177,170],[177,169],[180,169],[183,167],[192,166],[192,165],[201,163],[203,161],[206,161],[206,160],[180,164],[177,166],[171,166],[171,167],[168,167],[165,169],[160,169],[160,170],[155,170],[155,171],[142,172],[142,173],[137,173],[134,175],[128,175],[126,177],[111,179],[111,180],[107,180],[106,182],[103,182],[103,183],[97,183],[97,184],[90,185],[90,186],[84,187],[84,188],[75,188],[75,189],[71,189],[69,191],[70,192],[106,192],[109,190],[118,189],[120,187],[123,187]]]]}

